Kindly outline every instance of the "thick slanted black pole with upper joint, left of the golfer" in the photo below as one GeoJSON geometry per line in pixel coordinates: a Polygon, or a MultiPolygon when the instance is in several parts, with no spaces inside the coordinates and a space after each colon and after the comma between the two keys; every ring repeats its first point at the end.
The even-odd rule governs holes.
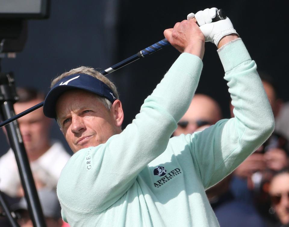
{"type": "MultiPolygon", "coordinates": [[[[13,104],[17,100],[12,74],[0,72],[0,111],[3,120],[15,115],[13,104]]],[[[25,198],[28,204],[28,211],[34,227],[45,227],[45,219],[38,198],[37,190],[30,169],[28,157],[24,148],[23,140],[17,121],[5,126],[10,146],[14,151],[25,198]]]]}

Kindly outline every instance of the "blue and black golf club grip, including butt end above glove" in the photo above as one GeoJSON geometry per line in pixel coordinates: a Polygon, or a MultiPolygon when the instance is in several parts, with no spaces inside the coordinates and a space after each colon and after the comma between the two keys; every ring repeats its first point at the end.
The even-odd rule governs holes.
{"type": "MultiPolygon", "coordinates": [[[[224,10],[219,9],[216,12],[216,17],[212,19],[212,22],[223,20],[225,18],[226,18],[226,15],[225,15],[224,10]]],[[[159,42],[154,43],[153,45],[138,52],[138,56],[144,58],[145,56],[150,55],[151,53],[154,53],[154,52],[162,49],[164,46],[168,46],[168,45],[170,45],[170,43],[168,42],[167,39],[160,40],[159,42]]]]}

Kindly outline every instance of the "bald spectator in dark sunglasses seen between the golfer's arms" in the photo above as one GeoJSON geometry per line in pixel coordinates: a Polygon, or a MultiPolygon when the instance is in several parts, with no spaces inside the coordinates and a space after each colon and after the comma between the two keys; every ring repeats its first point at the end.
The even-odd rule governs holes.
{"type": "Polygon", "coordinates": [[[213,125],[221,119],[221,108],[215,100],[204,94],[195,94],[173,136],[201,131],[201,127],[213,125]]]}

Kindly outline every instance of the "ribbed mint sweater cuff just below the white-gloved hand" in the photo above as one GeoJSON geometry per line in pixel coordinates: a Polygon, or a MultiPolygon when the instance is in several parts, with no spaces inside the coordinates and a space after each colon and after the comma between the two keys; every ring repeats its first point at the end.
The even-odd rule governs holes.
{"type": "Polygon", "coordinates": [[[252,60],[241,38],[226,43],[217,50],[225,72],[243,62],[252,60]]]}

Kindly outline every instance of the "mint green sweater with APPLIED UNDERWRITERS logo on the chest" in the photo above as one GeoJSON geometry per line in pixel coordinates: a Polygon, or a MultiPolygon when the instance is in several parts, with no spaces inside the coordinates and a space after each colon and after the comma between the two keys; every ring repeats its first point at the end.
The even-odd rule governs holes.
{"type": "Polygon", "coordinates": [[[242,40],[218,53],[235,118],[169,139],[202,70],[197,56],[182,53],[122,133],[70,158],[57,185],[64,221],[71,227],[219,226],[205,189],[269,137],[274,118],[242,40]]]}

